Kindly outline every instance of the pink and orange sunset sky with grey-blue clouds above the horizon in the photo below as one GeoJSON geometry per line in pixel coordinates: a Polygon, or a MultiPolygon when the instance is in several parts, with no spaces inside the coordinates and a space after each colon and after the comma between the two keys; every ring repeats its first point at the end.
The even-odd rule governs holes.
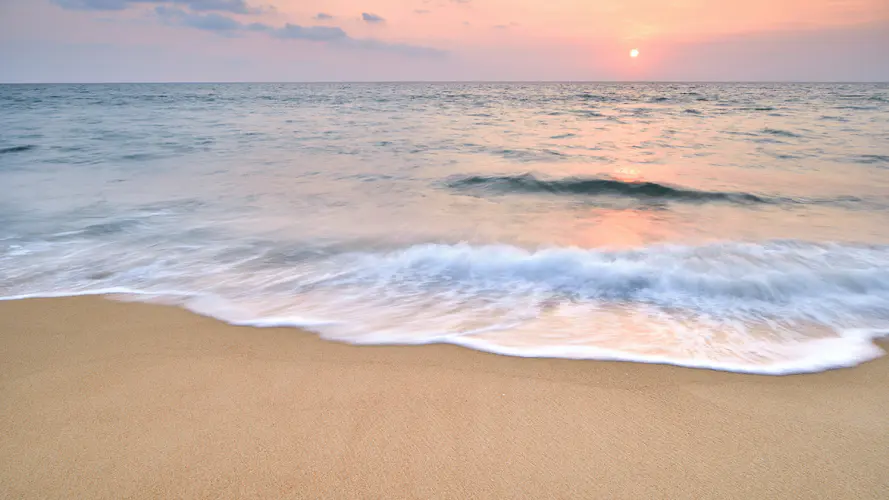
{"type": "Polygon", "coordinates": [[[889,81],[889,0],[0,0],[0,82],[403,80],[889,81]]]}

